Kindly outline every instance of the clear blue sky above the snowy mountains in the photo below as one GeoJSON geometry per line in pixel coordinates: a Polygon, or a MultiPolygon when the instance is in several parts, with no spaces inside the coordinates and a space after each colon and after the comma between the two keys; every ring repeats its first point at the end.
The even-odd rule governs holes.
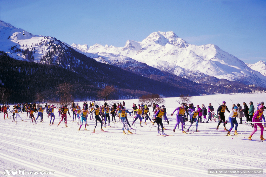
{"type": "Polygon", "coordinates": [[[245,63],[266,61],[266,1],[0,0],[0,19],[68,44],[122,47],[155,31],[215,44],[245,63]]]}

